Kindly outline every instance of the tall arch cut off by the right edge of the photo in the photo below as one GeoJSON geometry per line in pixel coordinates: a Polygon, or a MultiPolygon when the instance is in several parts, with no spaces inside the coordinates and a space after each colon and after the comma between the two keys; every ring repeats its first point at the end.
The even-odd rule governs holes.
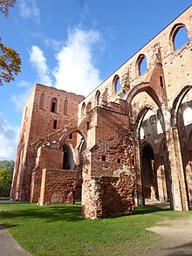
{"type": "Polygon", "coordinates": [[[187,191],[188,204],[192,204],[192,86],[183,86],[178,93],[172,108],[172,126],[178,133],[178,141],[182,158],[182,175],[184,189],[187,191]]]}

